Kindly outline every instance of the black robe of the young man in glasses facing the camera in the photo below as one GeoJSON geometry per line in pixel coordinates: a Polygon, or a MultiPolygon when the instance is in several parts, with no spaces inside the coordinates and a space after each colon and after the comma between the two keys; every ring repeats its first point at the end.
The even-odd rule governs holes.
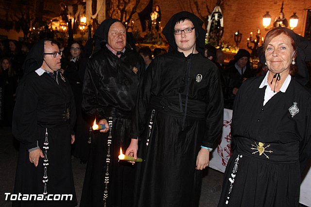
{"type": "Polygon", "coordinates": [[[134,206],[197,207],[202,171],[195,169],[196,158],[201,145],[213,148],[222,122],[223,95],[215,64],[201,53],[185,57],[172,51],[156,57],[140,83],[135,110],[132,137],[140,138],[138,156],[144,162],[136,164],[134,206]]]}

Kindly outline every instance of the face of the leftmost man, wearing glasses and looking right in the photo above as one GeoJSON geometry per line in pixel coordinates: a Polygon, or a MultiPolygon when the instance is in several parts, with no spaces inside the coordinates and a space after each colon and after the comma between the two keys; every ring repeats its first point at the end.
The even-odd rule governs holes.
{"type": "MultiPolygon", "coordinates": [[[[51,44],[50,41],[44,43],[44,52],[45,53],[53,53],[53,52],[59,52],[59,48],[57,44],[51,44]]],[[[43,56],[43,64],[42,68],[53,72],[61,69],[61,63],[60,59],[62,59],[61,55],[58,55],[57,57],[54,57],[52,54],[45,54],[43,56]]]]}

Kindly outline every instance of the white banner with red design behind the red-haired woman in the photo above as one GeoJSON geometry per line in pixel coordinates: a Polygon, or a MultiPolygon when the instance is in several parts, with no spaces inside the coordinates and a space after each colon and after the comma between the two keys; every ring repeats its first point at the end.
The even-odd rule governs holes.
{"type": "MultiPolygon", "coordinates": [[[[209,160],[208,167],[213,168],[222,173],[225,172],[225,167],[232,155],[231,149],[231,121],[232,121],[232,110],[224,109],[224,122],[223,122],[223,134],[222,138],[212,153],[211,159],[209,160]]],[[[311,169],[307,176],[303,180],[300,186],[300,199],[299,203],[311,207],[311,169]]]]}

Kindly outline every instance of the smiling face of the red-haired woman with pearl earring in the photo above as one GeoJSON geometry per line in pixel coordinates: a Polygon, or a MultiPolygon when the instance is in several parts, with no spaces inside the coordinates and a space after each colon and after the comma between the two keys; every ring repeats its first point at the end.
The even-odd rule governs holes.
{"type": "Polygon", "coordinates": [[[291,38],[284,34],[271,39],[265,51],[266,63],[271,72],[275,74],[287,70],[289,72],[294,56],[291,42],[291,38]]]}

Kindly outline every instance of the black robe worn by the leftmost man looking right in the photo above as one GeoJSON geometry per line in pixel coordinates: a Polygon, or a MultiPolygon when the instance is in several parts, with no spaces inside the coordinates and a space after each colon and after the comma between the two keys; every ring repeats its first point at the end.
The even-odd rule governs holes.
{"type": "Polygon", "coordinates": [[[44,161],[39,158],[38,167],[35,167],[29,161],[28,149],[36,147],[38,140],[38,145],[44,152],[43,143],[47,130],[47,192],[72,194],[72,201],[14,202],[14,207],[73,207],[77,204],[70,161],[71,134],[76,115],[69,82],[65,82],[63,78],[58,73],[58,85],[51,73],[45,72],[39,76],[32,71],[23,77],[17,87],[12,132],[20,141],[20,146],[14,193],[43,194],[44,161]]]}

